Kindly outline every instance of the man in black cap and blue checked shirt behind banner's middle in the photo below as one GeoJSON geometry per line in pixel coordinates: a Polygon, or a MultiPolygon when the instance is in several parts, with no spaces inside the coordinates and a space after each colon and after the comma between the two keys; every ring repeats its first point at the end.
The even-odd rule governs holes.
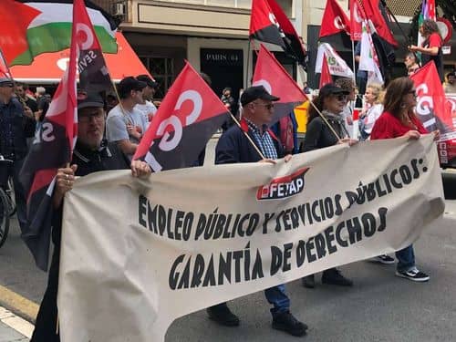
{"type": "MultiPolygon", "coordinates": [[[[273,119],[274,103],[279,98],[269,94],[263,86],[244,90],[241,96],[243,118],[239,126],[226,130],[215,148],[215,163],[228,164],[235,162],[256,162],[274,160],[284,157],[283,149],[275,135],[268,130],[273,119]],[[248,135],[263,154],[261,156],[252,146],[248,135]]],[[[291,155],[285,156],[289,161],[291,155]]],[[[299,322],[290,313],[290,299],[285,294],[285,285],[277,285],[264,290],[267,301],[273,305],[273,328],[300,337],[306,334],[307,326],[299,322]]],[[[239,318],[235,316],[226,303],[211,306],[207,309],[209,317],[223,326],[238,326],[239,318]]]]}

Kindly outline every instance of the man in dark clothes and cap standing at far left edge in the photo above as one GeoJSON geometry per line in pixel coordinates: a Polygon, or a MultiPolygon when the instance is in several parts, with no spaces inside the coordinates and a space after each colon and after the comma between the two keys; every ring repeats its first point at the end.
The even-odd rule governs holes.
{"type": "Polygon", "coordinates": [[[26,193],[19,181],[24,158],[27,153],[27,138],[35,135],[35,119],[33,112],[28,107],[22,105],[13,96],[15,82],[11,78],[0,78],[0,154],[13,164],[2,177],[5,181],[9,176],[13,176],[15,186],[15,197],[17,206],[17,220],[21,228],[26,226],[26,193]]]}

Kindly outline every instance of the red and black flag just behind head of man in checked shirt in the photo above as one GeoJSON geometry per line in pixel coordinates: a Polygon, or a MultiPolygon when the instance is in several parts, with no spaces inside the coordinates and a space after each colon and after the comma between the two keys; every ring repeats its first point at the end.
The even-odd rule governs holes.
{"type": "Polygon", "coordinates": [[[253,86],[263,86],[270,94],[280,98],[275,102],[274,119],[271,124],[293,112],[297,105],[306,100],[303,90],[263,44],[256,61],[253,86]]]}

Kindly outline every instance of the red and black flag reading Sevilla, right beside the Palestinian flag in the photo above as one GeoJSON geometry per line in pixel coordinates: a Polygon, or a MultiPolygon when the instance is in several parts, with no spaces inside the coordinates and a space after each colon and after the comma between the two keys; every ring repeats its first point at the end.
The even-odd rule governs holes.
{"type": "Polygon", "coordinates": [[[108,67],[84,2],[76,1],[74,11],[78,16],[80,88],[95,92],[109,91],[112,88],[112,82],[108,67]]]}

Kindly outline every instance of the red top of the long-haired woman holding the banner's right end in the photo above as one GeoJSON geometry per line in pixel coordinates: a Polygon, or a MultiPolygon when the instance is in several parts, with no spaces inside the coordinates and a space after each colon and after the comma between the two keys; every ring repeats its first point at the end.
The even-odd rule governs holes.
{"type": "MultiPolygon", "coordinates": [[[[411,119],[413,124],[417,127],[421,134],[426,134],[428,131],[424,128],[419,119],[411,119]]],[[[402,137],[409,130],[415,130],[412,127],[405,126],[398,118],[384,111],[383,114],[375,121],[374,127],[372,128],[372,133],[370,133],[371,140],[377,139],[392,139],[402,137]]]]}

